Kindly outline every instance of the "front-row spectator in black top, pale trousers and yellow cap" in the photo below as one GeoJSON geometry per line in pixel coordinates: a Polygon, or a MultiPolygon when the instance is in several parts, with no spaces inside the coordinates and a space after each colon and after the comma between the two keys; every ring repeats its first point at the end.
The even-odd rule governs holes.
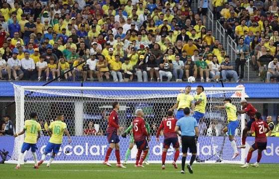
{"type": "Polygon", "coordinates": [[[146,60],[144,59],[143,55],[139,56],[138,62],[133,66],[135,71],[135,75],[138,77],[138,82],[147,82],[147,69],[146,69],[146,60]]]}

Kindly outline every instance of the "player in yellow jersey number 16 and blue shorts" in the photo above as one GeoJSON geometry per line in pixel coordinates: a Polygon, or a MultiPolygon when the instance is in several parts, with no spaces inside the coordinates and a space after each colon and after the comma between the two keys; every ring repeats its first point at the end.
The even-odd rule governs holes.
{"type": "Polygon", "coordinates": [[[49,134],[50,139],[46,147],[44,148],[44,153],[42,155],[41,161],[38,163],[38,166],[40,166],[44,162],[46,155],[52,152],[52,155],[50,156],[50,159],[46,165],[46,167],[50,167],[50,164],[54,160],[55,155],[59,152],[64,133],[66,133],[69,138],[68,143],[71,143],[71,137],[67,130],[67,125],[65,122],[63,122],[63,120],[63,114],[59,113],[57,114],[55,121],[51,122],[49,127],[47,128],[47,133],[49,134]],[[52,130],[52,134],[50,133],[50,130],[52,130]]]}

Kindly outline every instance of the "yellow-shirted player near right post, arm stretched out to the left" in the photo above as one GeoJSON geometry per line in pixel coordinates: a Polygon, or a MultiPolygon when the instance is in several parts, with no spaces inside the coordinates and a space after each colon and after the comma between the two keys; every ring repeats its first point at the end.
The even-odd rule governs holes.
{"type": "Polygon", "coordinates": [[[232,159],[235,159],[238,155],[239,152],[237,151],[236,148],[236,139],[235,137],[235,130],[238,127],[239,123],[238,123],[238,119],[237,119],[237,110],[236,110],[236,106],[232,105],[232,100],[227,98],[224,100],[224,106],[213,106],[214,108],[219,108],[219,109],[226,109],[227,111],[227,117],[228,117],[228,126],[226,126],[223,129],[223,132],[226,133],[228,132],[229,134],[229,139],[231,141],[231,144],[233,146],[234,149],[234,156],[232,159]]]}

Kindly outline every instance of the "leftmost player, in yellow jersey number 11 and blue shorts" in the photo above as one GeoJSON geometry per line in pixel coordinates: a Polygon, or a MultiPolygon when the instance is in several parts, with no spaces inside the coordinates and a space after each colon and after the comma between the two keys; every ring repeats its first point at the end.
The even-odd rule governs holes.
{"type": "Polygon", "coordinates": [[[37,164],[37,155],[36,155],[36,150],[38,149],[37,147],[37,142],[39,140],[39,138],[41,137],[41,125],[36,121],[37,120],[37,113],[31,113],[29,115],[30,120],[25,120],[25,124],[23,126],[23,130],[17,134],[14,134],[14,137],[17,137],[19,135],[22,135],[25,133],[26,131],[26,136],[24,139],[24,142],[22,144],[21,150],[20,150],[20,154],[18,156],[18,162],[17,162],[17,166],[15,167],[15,169],[19,169],[20,167],[20,162],[21,159],[24,155],[24,152],[27,150],[29,150],[31,148],[31,152],[33,154],[33,158],[34,158],[34,169],[38,169],[38,164],[37,164]],[[38,133],[38,136],[37,136],[38,133]]]}

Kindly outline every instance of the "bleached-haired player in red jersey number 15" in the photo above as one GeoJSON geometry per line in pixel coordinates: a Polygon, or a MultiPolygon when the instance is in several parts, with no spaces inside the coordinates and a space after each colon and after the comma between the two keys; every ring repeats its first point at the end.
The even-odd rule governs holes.
{"type": "Polygon", "coordinates": [[[137,118],[134,119],[133,121],[133,126],[134,126],[133,135],[134,135],[135,144],[137,145],[138,148],[135,167],[143,167],[141,164],[148,153],[148,149],[149,149],[148,142],[150,142],[151,139],[145,129],[145,121],[142,119],[143,112],[141,109],[136,110],[136,116],[137,118]],[[147,137],[148,142],[145,137],[147,137]],[[141,155],[141,159],[139,161],[142,150],[143,150],[143,154],[141,155]]]}

